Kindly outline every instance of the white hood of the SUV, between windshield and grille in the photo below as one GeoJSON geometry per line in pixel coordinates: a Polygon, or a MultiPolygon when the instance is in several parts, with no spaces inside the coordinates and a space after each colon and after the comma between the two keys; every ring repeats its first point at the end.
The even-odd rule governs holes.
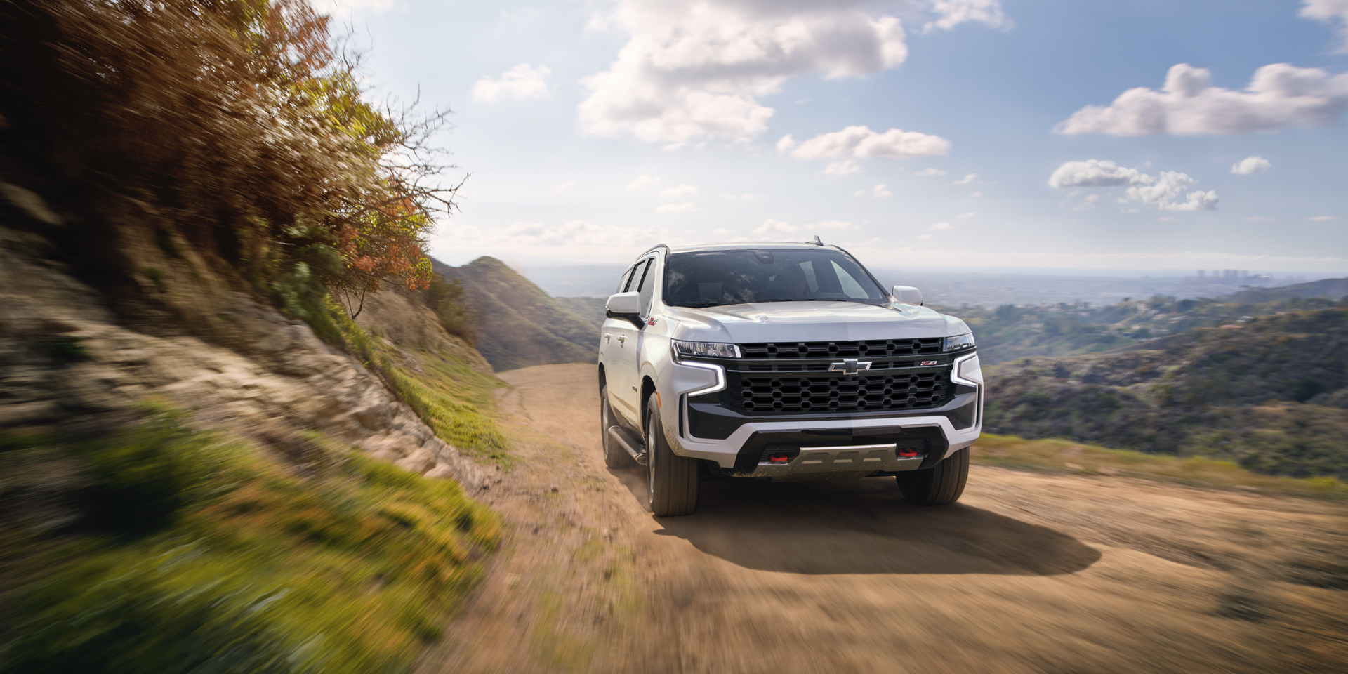
{"type": "Polygon", "coordinates": [[[852,341],[964,334],[964,321],[913,305],[759,302],[708,309],[667,307],[687,341],[852,341]]]}

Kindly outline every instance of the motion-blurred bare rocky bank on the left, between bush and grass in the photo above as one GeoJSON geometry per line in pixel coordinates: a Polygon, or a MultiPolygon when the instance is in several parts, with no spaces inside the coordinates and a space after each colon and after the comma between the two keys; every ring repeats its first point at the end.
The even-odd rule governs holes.
{"type": "MultiPolygon", "coordinates": [[[[63,217],[32,191],[0,194],[0,430],[115,425],[139,403],[167,402],[194,425],[284,448],[321,431],[400,468],[456,477],[470,489],[487,472],[437,438],[352,356],[322,342],[191,251],[155,241],[154,214],[121,204],[117,249],[132,288],[93,287],[53,244],[63,217]],[[137,217],[140,216],[140,217],[137,217]],[[53,236],[54,235],[54,236],[53,236]],[[109,298],[109,290],[120,295],[109,298]]],[[[462,340],[395,293],[369,298],[363,325],[417,367],[430,346],[489,371],[462,340]]]]}

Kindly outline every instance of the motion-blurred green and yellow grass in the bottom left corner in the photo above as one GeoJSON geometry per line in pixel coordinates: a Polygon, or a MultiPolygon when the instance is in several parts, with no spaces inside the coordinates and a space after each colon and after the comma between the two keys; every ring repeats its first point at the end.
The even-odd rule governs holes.
{"type": "Polygon", "coordinates": [[[303,477],[162,410],[100,442],[26,445],[9,452],[78,466],[86,515],[58,537],[0,528],[24,584],[12,671],[406,671],[499,541],[458,484],[317,434],[291,442],[303,477]]]}

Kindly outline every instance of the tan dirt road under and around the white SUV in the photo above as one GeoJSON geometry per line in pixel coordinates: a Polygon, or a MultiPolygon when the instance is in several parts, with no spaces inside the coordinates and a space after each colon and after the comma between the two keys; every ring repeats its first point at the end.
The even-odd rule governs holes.
{"type": "MultiPolygon", "coordinates": [[[[654,518],[609,470],[592,365],[500,375],[507,542],[425,673],[1290,673],[1348,662],[1348,508],[975,466],[704,483],[654,518]],[[555,489],[554,489],[555,488],[555,489]]],[[[975,450],[977,452],[977,450],[975,450]]]]}

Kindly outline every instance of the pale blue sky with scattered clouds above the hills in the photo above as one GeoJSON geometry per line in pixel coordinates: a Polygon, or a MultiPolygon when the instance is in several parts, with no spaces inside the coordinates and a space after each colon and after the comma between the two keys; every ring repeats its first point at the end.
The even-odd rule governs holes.
{"type": "Polygon", "coordinates": [[[318,0],[450,109],[431,255],[1348,272],[1348,0],[318,0]]]}

